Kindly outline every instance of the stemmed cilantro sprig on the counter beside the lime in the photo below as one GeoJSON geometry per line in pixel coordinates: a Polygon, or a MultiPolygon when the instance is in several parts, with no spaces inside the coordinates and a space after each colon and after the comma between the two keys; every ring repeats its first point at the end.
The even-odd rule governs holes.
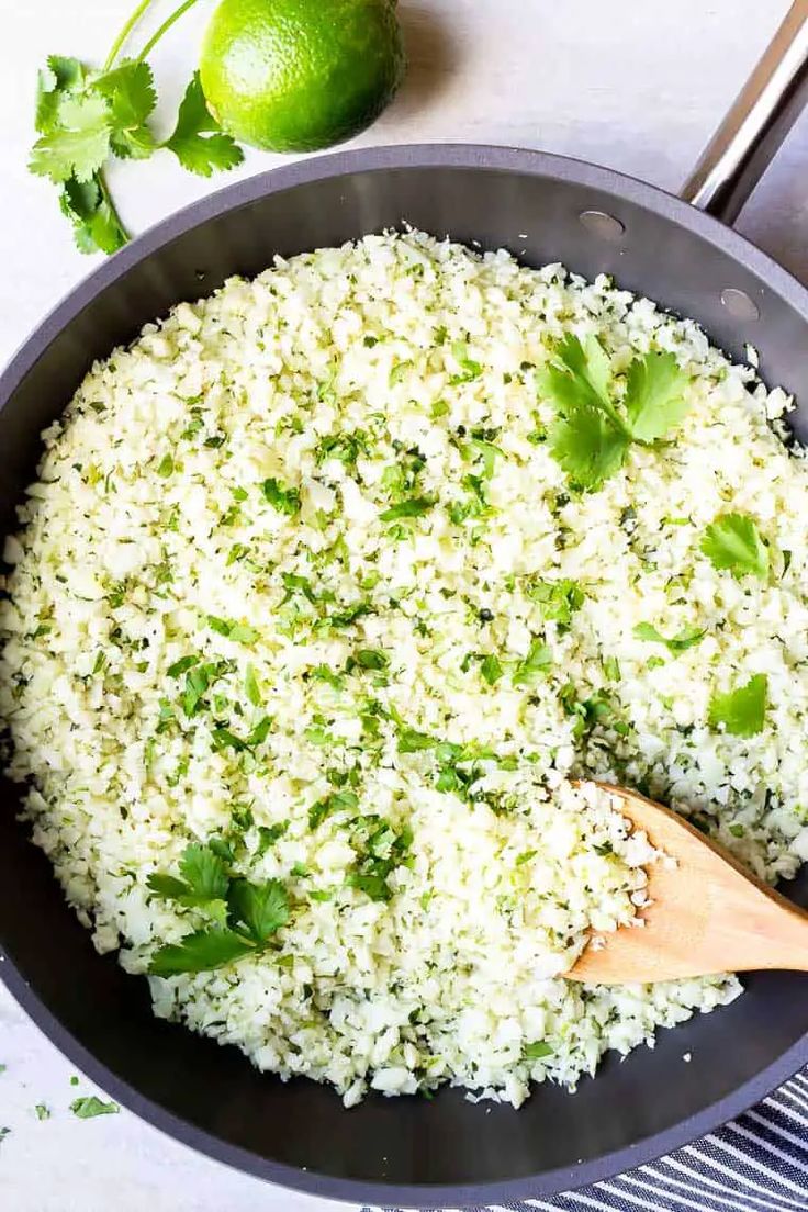
{"type": "Polygon", "coordinates": [[[137,58],[115,62],[126,38],[149,6],[127,21],[101,70],[80,59],[51,55],[38,75],[35,128],[29,168],[58,188],[59,207],[73,225],[81,252],[111,253],[130,239],[109,191],[105,168],[113,158],[147,160],[161,148],[189,172],[210,177],[243,159],[205,102],[195,73],[173,132],[159,142],[150,126],[157,103],[147,53],[195,0],[185,0],[137,58]]]}

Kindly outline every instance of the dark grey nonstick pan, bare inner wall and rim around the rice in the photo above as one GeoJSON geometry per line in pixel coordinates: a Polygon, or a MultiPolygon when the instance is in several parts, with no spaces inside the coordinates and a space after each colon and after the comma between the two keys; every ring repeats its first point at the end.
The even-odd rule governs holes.
{"type": "MultiPolygon", "coordinates": [[[[57,307],[0,378],[0,530],[13,528],[40,430],[93,359],[179,301],[259,273],[274,253],[403,222],[508,247],[531,265],[561,261],[590,279],[613,274],[698,320],[738,358],[753,344],[762,377],[802,401],[795,430],[808,436],[808,292],[716,219],[637,181],[540,153],[379,148],[214,194],[125,248],[57,307]]],[[[574,1097],[544,1085],[515,1113],[442,1091],[429,1102],[371,1096],[346,1111],[329,1088],[283,1085],[235,1048],[155,1019],[147,983],[96,954],[48,861],[15,819],[19,789],[2,783],[0,795],[0,976],[12,994],[124,1105],[288,1187],[420,1207],[548,1195],[692,1140],[808,1063],[807,978],[772,972],[747,978],[729,1007],[660,1031],[653,1051],[607,1058],[574,1097]]],[[[786,891],[808,903],[808,877],[786,891]]]]}

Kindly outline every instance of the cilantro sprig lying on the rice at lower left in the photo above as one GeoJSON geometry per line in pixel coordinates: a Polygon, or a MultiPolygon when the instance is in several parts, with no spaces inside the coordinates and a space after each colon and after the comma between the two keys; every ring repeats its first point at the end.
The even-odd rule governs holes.
{"type": "Polygon", "coordinates": [[[286,888],[280,880],[253,884],[233,875],[219,847],[193,842],[179,859],[179,877],[153,873],[147,880],[151,893],[195,909],[211,925],[185,934],[179,943],[157,948],[149,973],[173,977],[211,972],[260,954],[290,919],[286,888]]]}

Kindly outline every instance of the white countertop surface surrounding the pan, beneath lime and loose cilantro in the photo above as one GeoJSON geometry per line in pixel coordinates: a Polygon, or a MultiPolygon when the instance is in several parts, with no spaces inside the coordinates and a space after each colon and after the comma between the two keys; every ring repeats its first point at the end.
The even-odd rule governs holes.
{"type": "MultiPolygon", "coordinates": [[[[103,59],[132,0],[0,0],[0,362],[93,261],[71,244],[53,190],[28,175],[31,96],[46,55],[103,59]]],[[[156,0],[165,16],[173,5],[156,0]]],[[[193,70],[213,0],[151,58],[167,124],[193,70]]],[[[544,148],[676,189],[740,87],[786,0],[400,0],[411,67],[401,93],[356,145],[457,139],[544,148]]],[[[142,42],[139,44],[142,45],[142,42]]],[[[285,162],[250,154],[237,175],[285,162]]],[[[808,114],[739,228],[808,279],[808,114]]],[[[220,188],[172,156],[121,165],[111,183],[142,231],[220,188]]],[[[22,911],[22,910],[21,910],[22,911]]],[[[316,1212],[338,1207],[269,1187],[190,1153],[121,1111],[78,1120],[91,1092],[0,991],[0,1207],[8,1212],[316,1212]],[[35,1104],[52,1115],[39,1121],[35,1104]]]]}

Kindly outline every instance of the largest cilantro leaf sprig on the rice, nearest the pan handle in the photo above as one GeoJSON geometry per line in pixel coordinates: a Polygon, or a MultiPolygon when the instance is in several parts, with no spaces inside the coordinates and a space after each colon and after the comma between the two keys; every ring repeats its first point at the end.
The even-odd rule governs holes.
{"type": "Polygon", "coordinates": [[[652,350],[629,366],[618,402],[612,361],[597,337],[568,333],[537,373],[539,395],[556,410],[552,457],[578,487],[600,488],[632,444],[652,446],[682,422],[687,384],[674,354],[652,350]]]}

